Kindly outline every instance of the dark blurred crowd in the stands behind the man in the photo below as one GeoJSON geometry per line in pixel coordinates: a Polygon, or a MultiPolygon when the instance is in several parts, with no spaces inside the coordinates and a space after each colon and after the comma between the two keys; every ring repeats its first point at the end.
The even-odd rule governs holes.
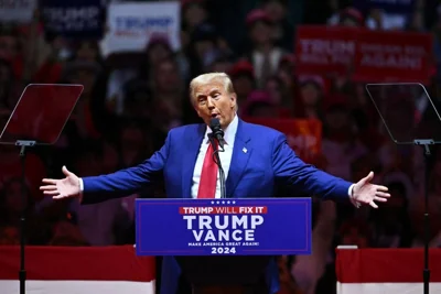
{"type": "MultiPolygon", "coordinates": [[[[362,13],[346,3],[349,1],[305,2],[305,23],[432,32],[433,68],[441,63],[441,9],[439,14],[432,13],[437,9],[429,7],[430,1],[415,1],[415,13],[400,21],[397,15],[375,9],[362,13]]],[[[314,254],[280,259],[286,293],[321,293],[322,287],[334,288],[333,250],[337,244],[421,247],[423,150],[399,146],[390,140],[380,127],[363,83],[353,81],[349,75],[297,74],[295,26],[289,20],[287,6],[288,1],[283,0],[259,1],[243,20],[246,35],[239,39],[244,44],[238,46],[229,44],[222,33],[226,29],[219,28],[223,22],[213,15],[212,1],[182,1],[182,50],[179,52],[159,34],[150,39],[144,52],[111,56],[103,56],[97,41],[54,37],[47,42],[42,37],[37,13],[34,22],[24,28],[0,25],[1,128],[28,84],[84,85],[56,144],[37,146],[26,156],[25,204],[20,197],[19,151],[13,145],[0,145],[0,244],[19,243],[23,205],[28,213],[29,244],[133,243],[135,199],[165,197],[163,186],[149,187],[121,199],[79,206],[77,202],[43,197],[39,190],[41,179],[62,177],[63,165],[78,176],[88,176],[148,159],[161,148],[171,128],[200,122],[187,94],[191,78],[207,72],[225,72],[237,92],[239,117],[320,120],[322,152],[314,164],[354,182],[374,171],[375,182],[388,186],[392,196],[378,210],[318,202],[313,211],[314,254]]],[[[437,107],[439,84],[440,76],[434,70],[426,87],[437,107]]],[[[392,122],[400,126],[402,117],[413,108],[415,105],[397,108],[397,121],[392,122]]],[[[430,105],[419,110],[420,129],[434,134],[439,118],[431,116],[430,105]]],[[[440,247],[441,157],[435,148],[432,151],[428,174],[432,215],[430,246],[440,247]]]]}

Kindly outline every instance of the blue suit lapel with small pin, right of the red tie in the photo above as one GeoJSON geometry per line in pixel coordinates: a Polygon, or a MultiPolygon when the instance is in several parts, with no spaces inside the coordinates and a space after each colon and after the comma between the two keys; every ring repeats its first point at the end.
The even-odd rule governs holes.
{"type": "Polygon", "coordinates": [[[233,197],[252,152],[251,146],[248,144],[250,137],[245,129],[246,123],[239,119],[235,144],[233,148],[232,163],[226,179],[226,195],[228,198],[233,197]]]}

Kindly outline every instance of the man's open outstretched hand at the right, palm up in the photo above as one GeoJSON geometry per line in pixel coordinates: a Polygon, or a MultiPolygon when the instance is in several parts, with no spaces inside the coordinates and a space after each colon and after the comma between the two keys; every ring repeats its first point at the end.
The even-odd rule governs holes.
{"type": "Polygon", "coordinates": [[[370,172],[366,177],[362,178],[353,186],[352,200],[355,202],[355,204],[368,204],[374,208],[378,208],[375,202],[385,203],[387,202],[387,198],[390,197],[390,194],[387,193],[387,187],[370,184],[373,178],[374,173],[370,172]]]}

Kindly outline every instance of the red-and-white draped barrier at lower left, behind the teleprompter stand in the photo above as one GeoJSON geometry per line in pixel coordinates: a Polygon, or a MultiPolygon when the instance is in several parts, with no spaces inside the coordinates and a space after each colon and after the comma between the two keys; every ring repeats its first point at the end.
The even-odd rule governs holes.
{"type": "MultiPolygon", "coordinates": [[[[154,257],[133,246],[26,247],[26,293],[154,294],[154,257]]],[[[0,292],[19,293],[20,248],[0,246],[0,292]]]]}

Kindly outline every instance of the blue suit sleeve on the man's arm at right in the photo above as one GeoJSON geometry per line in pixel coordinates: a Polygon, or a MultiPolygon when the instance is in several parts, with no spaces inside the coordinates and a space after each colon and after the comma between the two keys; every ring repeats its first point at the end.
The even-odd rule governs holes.
{"type": "Polygon", "coordinates": [[[278,185],[288,185],[299,195],[349,200],[348,189],[352,183],[304,163],[288,145],[283,134],[276,137],[272,154],[272,168],[278,185]]]}

